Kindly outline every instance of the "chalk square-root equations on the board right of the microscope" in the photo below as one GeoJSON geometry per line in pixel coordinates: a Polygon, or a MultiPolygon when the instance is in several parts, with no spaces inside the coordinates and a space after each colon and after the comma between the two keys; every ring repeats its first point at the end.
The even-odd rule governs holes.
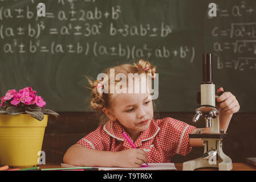
{"type": "Polygon", "coordinates": [[[232,6],[218,6],[217,18],[225,23],[210,26],[217,69],[256,71],[256,6],[251,2],[254,1],[234,1],[232,6]]]}

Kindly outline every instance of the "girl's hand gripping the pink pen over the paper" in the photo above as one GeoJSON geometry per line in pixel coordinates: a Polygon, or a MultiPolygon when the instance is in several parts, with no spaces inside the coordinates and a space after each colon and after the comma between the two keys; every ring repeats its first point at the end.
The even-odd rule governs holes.
{"type": "Polygon", "coordinates": [[[148,163],[146,152],[140,149],[131,148],[116,153],[119,167],[136,168],[141,167],[143,163],[148,163]]]}

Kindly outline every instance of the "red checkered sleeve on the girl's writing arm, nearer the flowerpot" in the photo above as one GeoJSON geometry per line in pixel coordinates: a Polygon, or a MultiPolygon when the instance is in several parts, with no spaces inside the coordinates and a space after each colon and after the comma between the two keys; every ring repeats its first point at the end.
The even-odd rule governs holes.
{"type": "Polygon", "coordinates": [[[95,150],[108,150],[109,140],[108,135],[105,134],[102,127],[98,127],[95,131],[92,131],[76,143],[95,150]]]}

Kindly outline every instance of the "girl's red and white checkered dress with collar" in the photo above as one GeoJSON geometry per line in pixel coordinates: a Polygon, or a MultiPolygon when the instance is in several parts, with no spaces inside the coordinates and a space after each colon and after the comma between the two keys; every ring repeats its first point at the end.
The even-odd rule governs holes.
{"type": "MultiPolygon", "coordinates": [[[[147,153],[149,163],[170,163],[174,154],[185,156],[192,150],[189,146],[189,134],[195,128],[169,117],[152,119],[148,129],[141,133],[134,144],[147,153]]],[[[121,134],[122,131],[125,132],[125,129],[119,122],[108,121],[77,143],[102,151],[117,152],[132,148],[121,134]]]]}

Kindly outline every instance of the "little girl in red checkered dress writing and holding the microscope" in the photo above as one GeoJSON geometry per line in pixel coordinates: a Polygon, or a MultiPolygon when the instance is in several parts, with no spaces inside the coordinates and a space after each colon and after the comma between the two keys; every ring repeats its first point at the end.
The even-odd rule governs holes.
{"type": "MultiPolygon", "coordinates": [[[[190,133],[196,132],[196,127],[169,117],[153,118],[151,84],[147,84],[149,89],[144,93],[141,90],[135,92],[136,85],[128,82],[135,80],[134,77],[129,78],[129,73],[140,76],[147,74],[153,80],[156,77],[153,65],[140,60],[137,64],[123,64],[112,70],[116,75],[123,75],[120,81],[111,80],[110,68],[105,71],[103,81],[89,80],[92,85],[91,107],[103,114],[101,125],[68,148],[63,158],[64,163],[74,166],[135,168],[141,167],[143,163],[170,163],[173,155],[185,156],[193,146],[203,146],[202,139],[189,138],[190,133]],[[120,85],[124,92],[109,92],[111,86],[120,85]],[[132,148],[123,137],[123,131],[136,148],[132,148]]],[[[142,80],[139,81],[140,85],[143,84],[142,80]]],[[[224,90],[220,88],[217,93],[221,91],[224,90]]],[[[224,92],[217,98],[217,102],[220,128],[226,132],[232,115],[240,106],[230,92],[224,92]]],[[[204,132],[209,133],[210,128],[205,128],[204,132]]]]}

